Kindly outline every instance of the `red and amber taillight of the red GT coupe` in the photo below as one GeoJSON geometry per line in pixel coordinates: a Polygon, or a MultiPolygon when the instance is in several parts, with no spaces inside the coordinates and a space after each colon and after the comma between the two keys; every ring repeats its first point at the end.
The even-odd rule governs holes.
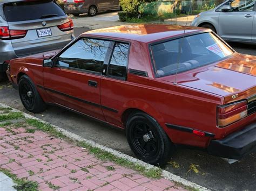
{"type": "Polygon", "coordinates": [[[246,117],[247,108],[247,101],[219,106],[217,109],[219,128],[224,128],[225,126],[246,117]]]}

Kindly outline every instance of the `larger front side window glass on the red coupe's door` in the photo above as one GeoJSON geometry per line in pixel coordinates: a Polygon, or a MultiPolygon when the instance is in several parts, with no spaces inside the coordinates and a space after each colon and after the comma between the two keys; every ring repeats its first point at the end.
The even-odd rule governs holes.
{"type": "Polygon", "coordinates": [[[106,40],[80,39],[59,56],[56,66],[102,73],[109,45],[106,40]]]}

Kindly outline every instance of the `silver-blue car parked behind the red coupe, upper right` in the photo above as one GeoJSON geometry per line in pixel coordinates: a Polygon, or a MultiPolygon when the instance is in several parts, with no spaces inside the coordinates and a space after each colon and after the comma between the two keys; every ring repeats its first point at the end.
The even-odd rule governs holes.
{"type": "Polygon", "coordinates": [[[255,11],[255,1],[226,1],[201,12],[191,25],[209,28],[227,41],[256,43],[255,11]]]}

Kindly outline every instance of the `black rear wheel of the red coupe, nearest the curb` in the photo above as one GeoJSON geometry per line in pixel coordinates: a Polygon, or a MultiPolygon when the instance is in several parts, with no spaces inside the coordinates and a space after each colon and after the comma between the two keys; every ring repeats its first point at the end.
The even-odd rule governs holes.
{"type": "Polygon", "coordinates": [[[165,165],[175,148],[157,121],[144,112],[129,117],[126,138],[138,159],[156,166],[165,165]]]}

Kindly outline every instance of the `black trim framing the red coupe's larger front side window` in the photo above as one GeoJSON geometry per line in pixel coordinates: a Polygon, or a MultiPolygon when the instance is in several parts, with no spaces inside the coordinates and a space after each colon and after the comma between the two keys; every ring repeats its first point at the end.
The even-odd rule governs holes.
{"type": "MultiPolygon", "coordinates": [[[[105,40],[105,41],[109,41],[110,42],[110,45],[109,45],[109,48],[111,48],[111,51],[112,51],[112,48],[114,46],[114,42],[110,39],[103,39],[103,38],[93,38],[93,37],[80,37],[80,38],[77,38],[76,40],[72,41],[70,44],[66,45],[60,52],[58,52],[55,56],[53,56],[52,60],[53,60],[53,65],[52,65],[52,68],[53,67],[56,67],[56,68],[63,68],[63,69],[68,69],[68,70],[74,70],[74,71],[78,71],[78,72],[82,72],[82,73],[87,73],[87,74],[95,74],[95,75],[99,75],[99,76],[102,76],[103,75],[103,69],[104,69],[104,65],[105,65],[105,61],[108,61],[107,58],[109,57],[109,55],[105,55],[105,59],[104,59],[104,63],[103,63],[103,69],[101,72],[95,72],[95,71],[92,71],[92,70],[86,70],[86,69],[80,69],[80,68],[72,68],[72,67],[65,67],[65,66],[57,66],[56,63],[58,62],[59,60],[59,56],[62,55],[67,49],[69,49],[71,46],[73,46],[74,44],[76,44],[79,40],[83,40],[83,39],[95,39],[95,40],[105,40]],[[111,45],[113,45],[111,47],[111,45]]],[[[110,59],[111,59],[111,55],[110,55],[110,59]]],[[[107,62],[108,63],[108,62],[107,62]]]]}

